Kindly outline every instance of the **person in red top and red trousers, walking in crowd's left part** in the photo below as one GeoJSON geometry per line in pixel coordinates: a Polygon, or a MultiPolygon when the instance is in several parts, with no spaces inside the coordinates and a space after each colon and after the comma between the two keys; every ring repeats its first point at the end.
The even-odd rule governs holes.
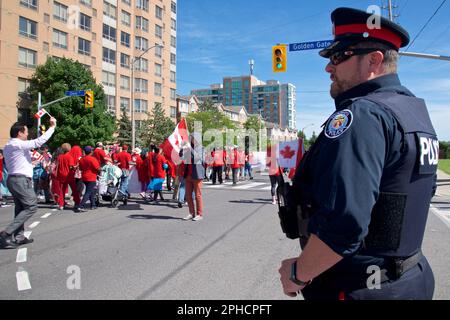
{"type": "Polygon", "coordinates": [[[70,186],[70,189],[72,190],[72,197],[73,201],[75,202],[75,208],[78,208],[78,205],[80,204],[80,195],[75,183],[76,163],[73,156],[69,153],[72,148],[68,143],[63,143],[61,148],[64,153],[61,154],[57,160],[57,179],[60,183],[58,192],[59,210],[64,209],[65,191],[67,190],[68,186],[70,186]]]}

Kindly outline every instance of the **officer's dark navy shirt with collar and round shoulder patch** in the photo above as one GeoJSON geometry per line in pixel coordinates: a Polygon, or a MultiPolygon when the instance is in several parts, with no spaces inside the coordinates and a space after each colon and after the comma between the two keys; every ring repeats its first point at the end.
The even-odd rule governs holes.
{"type": "Polygon", "coordinates": [[[374,102],[356,99],[373,92],[413,94],[397,74],[362,83],[338,96],[336,112],[316,143],[312,194],[317,210],[308,231],[333,251],[350,256],[368,233],[383,169],[400,155],[402,132],[397,120],[374,102]]]}

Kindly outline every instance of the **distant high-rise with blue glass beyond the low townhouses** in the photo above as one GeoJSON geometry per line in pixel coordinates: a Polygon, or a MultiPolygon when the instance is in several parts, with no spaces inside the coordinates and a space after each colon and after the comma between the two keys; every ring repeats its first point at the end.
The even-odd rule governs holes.
{"type": "Polygon", "coordinates": [[[276,80],[267,83],[255,76],[226,77],[223,85],[211,85],[209,89],[195,89],[200,101],[211,99],[224,106],[244,106],[249,114],[260,114],[268,122],[282,128],[296,129],[296,95],[293,84],[280,84],[276,80]]]}

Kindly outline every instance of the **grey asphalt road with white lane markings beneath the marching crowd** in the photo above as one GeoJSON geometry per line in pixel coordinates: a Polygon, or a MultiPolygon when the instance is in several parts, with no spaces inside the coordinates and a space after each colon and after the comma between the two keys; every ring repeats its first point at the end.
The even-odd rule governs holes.
{"type": "MultiPolygon", "coordinates": [[[[237,188],[207,185],[205,219],[197,222],[182,220],[187,208],[171,202],[80,214],[42,206],[27,222],[35,242],[25,246],[26,261],[23,250],[20,257],[0,250],[0,299],[291,300],[278,267],[298,255],[298,243],[281,232],[269,186],[268,177],[237,188]],[[31,288],[19,290],[27,279],[31,288]]],[[[12,212],[0,208],[0,229],[12,212]]],[[[430,212],[423,249],[434,298],[450,299],[450,224],[438,216],[430,212]]]]}

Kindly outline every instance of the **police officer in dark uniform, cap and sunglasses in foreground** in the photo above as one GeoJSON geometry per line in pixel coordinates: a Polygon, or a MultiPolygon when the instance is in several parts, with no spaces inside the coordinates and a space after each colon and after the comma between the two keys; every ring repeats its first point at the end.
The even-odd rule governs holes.
{"type": "Polygon", "coordinates": [[[331,20],[334,42],[320,55],[329,58],[336,111],[294,177],[308,240],[299,257],[282,262],[283,290],[307,300],[431,299],[421,245],[438,140],[424,101],[397,75],[409,35],[351,8],[331,20]]]}

